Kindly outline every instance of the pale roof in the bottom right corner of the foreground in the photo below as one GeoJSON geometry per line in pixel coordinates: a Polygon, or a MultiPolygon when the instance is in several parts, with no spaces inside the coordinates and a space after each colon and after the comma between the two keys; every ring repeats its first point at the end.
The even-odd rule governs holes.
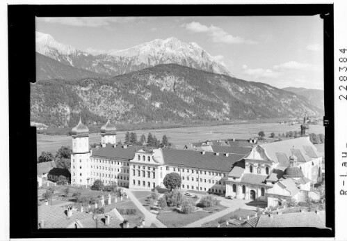
{"type": "Polygon", "coordinates": [[[282,215],[261,215],[257,222],[257,228],[275,228],[275,227],[314,227],[326,228],[325,212],[318,214],[315,212],[294,212],[282,215]]]}

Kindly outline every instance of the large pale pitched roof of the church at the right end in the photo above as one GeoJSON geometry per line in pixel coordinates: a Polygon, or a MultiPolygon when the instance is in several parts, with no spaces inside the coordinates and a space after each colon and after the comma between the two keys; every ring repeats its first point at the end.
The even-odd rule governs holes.
{"type": "Polygon", "coordinates": [[[280,160],[278,160],[277,158],[276,153],[283,153],[287,157],[290,157],[292,155],[291,151],[293,150],[293,146],[294,155],[298,157],[298,162],[308,162],[312,160],[314,155],[316,155],[317,157],[319,156],[316,147],[312,144],[311,141],[309,141],[309,137],[299,137],[285,141],[275,141],[272,143],[261,144],[261,146],[265,148],[266,153],[274,162],[280,162],[280,160]]]}

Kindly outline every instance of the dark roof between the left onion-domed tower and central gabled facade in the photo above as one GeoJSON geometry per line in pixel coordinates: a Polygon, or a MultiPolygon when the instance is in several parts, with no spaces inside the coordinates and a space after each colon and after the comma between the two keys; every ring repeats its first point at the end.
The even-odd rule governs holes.
{"type": "Polygon", "coordinates": [[[92,148],[92,157],[103,157],[108,159],[134,159],[136,146],[122,146],[113,147],[112,145],[106,145],[105,147],[92,148]]]}

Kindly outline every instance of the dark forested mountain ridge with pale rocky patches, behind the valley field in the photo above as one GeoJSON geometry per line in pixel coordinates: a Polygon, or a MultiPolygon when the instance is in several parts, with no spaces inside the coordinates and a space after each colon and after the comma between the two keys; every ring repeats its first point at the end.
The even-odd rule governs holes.
{"type": "Polygon", "coordinates": [[[318,116],[306,98],[268,84],[165,64],[112,79],[31,84],[31,121],[66,127],[155,120],[236,120],[318,116]]]}

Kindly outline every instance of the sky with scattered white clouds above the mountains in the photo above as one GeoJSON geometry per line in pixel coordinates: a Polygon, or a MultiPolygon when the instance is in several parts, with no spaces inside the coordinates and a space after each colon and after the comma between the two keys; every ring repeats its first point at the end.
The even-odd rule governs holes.
{"type": "Polygon", "coordinates": [[[323,20],[318,15],[36,20],[36,31],[90,54],[175,37],[196,42],[239,79],[323,90],[323,20]]]}

